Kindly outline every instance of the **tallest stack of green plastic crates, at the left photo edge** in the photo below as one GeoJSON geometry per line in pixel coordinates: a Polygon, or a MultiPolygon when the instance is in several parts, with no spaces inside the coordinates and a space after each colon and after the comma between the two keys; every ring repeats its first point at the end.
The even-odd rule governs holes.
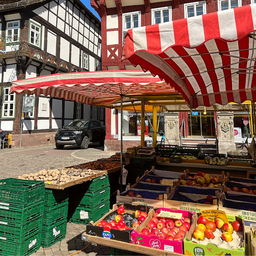
{"type": "Polygon", "coordinates": [[[30,255],[41,244],[44,181],[0,180],[0,255],[30,255]]]}

